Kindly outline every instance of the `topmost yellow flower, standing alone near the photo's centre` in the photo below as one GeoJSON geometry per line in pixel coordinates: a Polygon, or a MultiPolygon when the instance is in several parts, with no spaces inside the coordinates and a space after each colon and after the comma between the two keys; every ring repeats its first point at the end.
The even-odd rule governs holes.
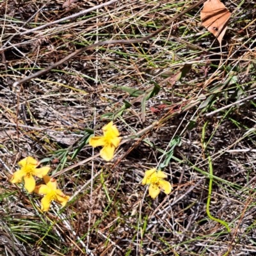
{"type": "Polygon", "coordinates": [[[110,161],[114,157],[115,149],[118,147],[122,138],[118,137],[119,132],[116,125],[113,125],[113,122],[105,125],[102,131],[104,136],[91,138],[89,144],[92,147],[103,146],[102,150],[100,150],[100,156],[104,160],[110,161]]]}

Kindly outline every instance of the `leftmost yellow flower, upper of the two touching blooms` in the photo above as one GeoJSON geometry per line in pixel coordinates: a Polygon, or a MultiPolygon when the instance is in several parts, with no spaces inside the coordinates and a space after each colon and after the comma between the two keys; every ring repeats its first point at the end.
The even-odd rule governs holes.
{"type": "Polygon", "coordinates": [[[10,182],[20,183],[22,182],[23,177],[25,182],[24,186],[29,193],[33,192],[36,186],[36,181],[33,175],[38,178],[42,178],[50,170],[50,167],[47,166],[44,166],[42,168],[36,168],[40,163],[36,161],[36,159],[33,159],[33,157],[31,156],[22,159],[18,164],[21,166],[21,168],[17,172],[13,173],[10,182]]]}

